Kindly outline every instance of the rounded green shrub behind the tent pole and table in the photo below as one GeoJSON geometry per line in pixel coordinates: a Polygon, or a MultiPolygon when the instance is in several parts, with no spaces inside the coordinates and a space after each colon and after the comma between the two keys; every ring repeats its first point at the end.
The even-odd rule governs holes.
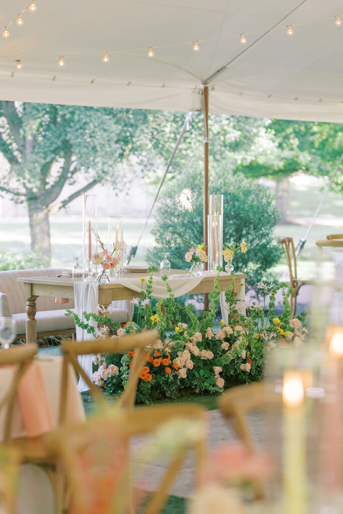
{"type": "MultiPolygon", "coordinates": [[[[210,192],[224,195],[224,241],[229,245],[245,239],[246,253],[238,252],[232,261],[236,271],[247,273],[247,283],[254,284],[265,276],[281,256],[273,236],[278,212],[267,188],[242,174],[226,173],[212,177],[210,192]]],[[[188,170],[169,184],[160,199],[152,230],[156,245],[148,250],[147,261],[158,263],[160,254],[169,251],[172,268],[188,267],[185,245],[175,235],[175,228],[187,241],[203,242],[203,182],[200,169],[188,170]]]]}

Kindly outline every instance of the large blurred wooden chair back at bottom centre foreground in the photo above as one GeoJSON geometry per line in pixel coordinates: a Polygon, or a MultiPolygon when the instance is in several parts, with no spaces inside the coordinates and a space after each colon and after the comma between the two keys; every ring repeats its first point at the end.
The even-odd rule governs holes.
{"type": "MultiPolygon", "coordinates": [[[[103,411],[83,425],[61,427],[47,434],[45,440],[49,451],[62,463],[70,487],[69,514],[132,514],[137,512],[136,508],[140,514],[158,514],[190,448],[195,449],[196,478],[201,479],[206,458],[206,412],[194,404],[137,407],[127,411],[107,409],[107,413],[103,411]],[[135,446],[136,460],[135,454],[131,456],[126,451],[131,439],[143,434],[153,435],[153,448],[158,444],[163,446],[162,456],[168,446],[163,442],[172,446],[170,462],[166,466],[164,461],[161,469],[166,471],[161,473],[158,488],[148,501],[143,493],[144,484],[138,482],[134,494],[132,486],[139,469],[143,481],[147,476],[145,468],[139,466],[146,465],[147,453],[149,460],[149,442],[144,440],[143,455],[135,446]]],[[[156,449],[154,453],[160,454],[156,449]]]]}

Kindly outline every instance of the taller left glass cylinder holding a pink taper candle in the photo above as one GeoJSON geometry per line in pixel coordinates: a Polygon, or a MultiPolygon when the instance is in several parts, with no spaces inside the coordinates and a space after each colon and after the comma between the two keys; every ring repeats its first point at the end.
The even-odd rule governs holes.
{"type": "Polygon", "coordinates": [[[93,255],[97,252],[97,195],[83,195],[83,262],[84,280],[96,282],[97,265],[93,255]]]}

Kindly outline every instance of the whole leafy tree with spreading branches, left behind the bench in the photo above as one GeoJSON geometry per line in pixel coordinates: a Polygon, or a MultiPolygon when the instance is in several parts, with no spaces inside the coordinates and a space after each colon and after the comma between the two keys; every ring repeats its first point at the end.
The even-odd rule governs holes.
{"type": "Polygon", "coordinates": [[[50,254],[50,214],[102,180],[123,183],[119,163],[146,122],[144,111],[130,109],[1,102],[0,152],[10,169],[0,173],[0,192],[27,204],[32,249],[50,254]],[[66,183],[76,191],[56,203],[66,183]]]}

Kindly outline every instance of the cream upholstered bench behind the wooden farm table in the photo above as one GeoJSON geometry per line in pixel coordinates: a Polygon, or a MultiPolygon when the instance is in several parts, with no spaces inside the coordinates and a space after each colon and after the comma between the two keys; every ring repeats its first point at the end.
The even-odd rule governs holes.
{"type": "MultiPolygon", "coordinates": [[[[45,277],[58,275],[59,268],[16,269],[0,271],[0,316],[12,316],[16,324],[17,339],[25,338],[26,301],[24,287],[17,282],[19,277],[45,277]]],[[[114,310],[111,318],[119,323],[126,323],[132,317],[132,305],[129,300],[112,302],[114,310]]],[[[37,336],[75,334],[72,316],[65,316],[66,308],[74,308],[74,300],[68,303],[55,303],[55,298],[39,297],[37,299],[37,336]]]]}

